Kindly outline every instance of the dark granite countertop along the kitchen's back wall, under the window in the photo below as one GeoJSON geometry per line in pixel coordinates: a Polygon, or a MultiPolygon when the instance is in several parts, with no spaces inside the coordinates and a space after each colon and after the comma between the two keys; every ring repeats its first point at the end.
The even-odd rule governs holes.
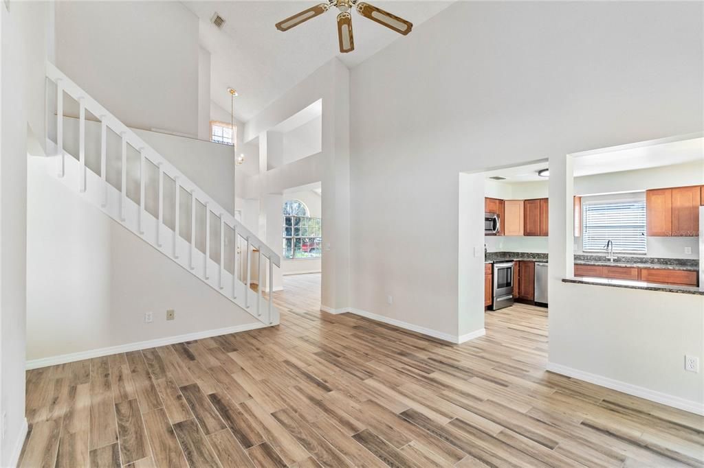
{"type": "MultiPolygon", "coordinates": [[[[548,254],[532,252],[487,252],[484,263],[491,264],[494,263],[494,261],[509,260],[548,261],[548,254]]],[[[616,260],[611,262],[605,259],[605,255],[575,255],[574,264],[699,271],[699,261],[695,259],[661,259],[647,256],[617,256],[616,260]]]]}

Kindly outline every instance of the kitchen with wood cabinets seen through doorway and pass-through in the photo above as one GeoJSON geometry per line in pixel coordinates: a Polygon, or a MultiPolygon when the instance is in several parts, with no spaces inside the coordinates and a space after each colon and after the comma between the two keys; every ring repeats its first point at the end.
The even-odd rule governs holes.
{"type": "MultiPolygon", "coordinates": [[[[547,164],[485,177],[485,309],[547,306],[547,164]]],[[[699,291],[702,138],[584,157],[573,200],[574,275],[565,281],[699,291]]]]}

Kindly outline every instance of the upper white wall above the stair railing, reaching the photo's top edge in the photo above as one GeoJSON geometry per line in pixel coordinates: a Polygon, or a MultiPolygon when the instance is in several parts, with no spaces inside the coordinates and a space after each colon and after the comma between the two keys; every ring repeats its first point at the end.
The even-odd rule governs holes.
{"type": "Polygon", "coordinates": [[[199,133],[198,18],[179,2],[57,2],[56,66],[127,126],[199,133]]]}

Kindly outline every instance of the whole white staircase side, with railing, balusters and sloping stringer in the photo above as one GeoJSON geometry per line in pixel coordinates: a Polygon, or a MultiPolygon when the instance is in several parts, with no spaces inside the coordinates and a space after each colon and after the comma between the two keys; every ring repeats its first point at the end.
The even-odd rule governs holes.
{"type": "MultiPolygon", "coordinates": [[[[56,141],[52,141],[49,137],[49,131],[46,136],[46,154],[54,155],[44,158],[47,170],[56,175],[70,190],[76,190],[80,193],[86,202],[94,204],[103,213],[168,256],[175,264],[206,282],[213,290],[237,304],[261,323],[277,325],[279,311],[272,304],[272,294],[268,294],[268,298],[265,298],[262,291],[265,289],[263,285],[272,285],[273,268],[280,266],[279,256],[168,160],[153,150],[142,138],[139,138],[134,131],[122,124],[56,66],[48,62],[46,63],[46,78],[48,79],[47,96],[50,94],[49,86],[53,86],[53,84],[56,84],[57,96],[56,115],[54,112],[47,112],[47,119],[56,119],[56,141]],[[63,142],[64,93],[75,99],[79,107],[78,155],[69,154],[65,150],[63,142]],[[99,173],[86,165],[86,111],[92,113],[100,121],[99,173]],[[120,136],[121,181],[118,187],[109,183],[106,177],[108,172],[106,143],[108,129],[120,136]],[[128,145],[139,152],[139,168],[130,167],[127,160],[128,145]],[[146,164],[149,163],[158,167],[157,216],[153,216],[145,207],[147,182],[145,169],[146,164]],[[138,179],[138,202],[134,201],[134,196],[127,196],[128,174],[130,183],[137,183],[133,179],[135,177],[138,179]],[[170,178],[175,184],[175,190],[173,190],[175,200],[169,200],[172,203],[169,206],[167,206],[164,197],[165,177],[170,178]],[[188,194],[187,200],[182,200],[182,189],[188,194]],[[180,219],[181,212],[184,211],[182,209],[184,204],[190,207],[188,210],[190,212],[188,229],[182,228],[184,220],[180,219]],[[196,205],[198,210],[205,208],[206,216],[204,219],[197,219],[199,217],[196,216],[196,205]],[[167,226],[164,220],[164,212],[167,208],[172,209],[172,214],[175,217],[172,227],[167,226]],[[219,223],[220,226],[211,226],[213,224],[211,218],[213,217],[218,220],[216,223],[219,223]],[[213,231],[212,235],[211,231],[213,231]],[[197,233],[204,233],[204,248],[196,245],[197,233]],[[211,245],[213,237],[214,241],[218,242],[219,249],[218,245],[211,245]],[[226,242],[226,239],[230,242],[226,242]],[[228,250],[226,244],[230,245],[230,252],[227,255],[232,258],[232,268],[230,268],[232,272],[226,268],[226,264],[230,261],[225,256],[228,250]],[[213,251],[215,251],[214,259],[213,251]],[[209,254],[206,255],[206,252],[209,254]],[[256,281],[251,278],[252,262],[256,262],[258,266],[256,281]],[[268,282],[266,275],[268,275],[268,282]],[[258,292],[251,290],[250,284],[252,282],[258,283],[258,292]]],[[[49,109],[49,105],[47,105],[47,109],[49,109]]],[[[51,123],[53,124],[53,122],[51,123]]],[[[132,166],[134,165],[136,164],[132,164],[132,166]]]]}

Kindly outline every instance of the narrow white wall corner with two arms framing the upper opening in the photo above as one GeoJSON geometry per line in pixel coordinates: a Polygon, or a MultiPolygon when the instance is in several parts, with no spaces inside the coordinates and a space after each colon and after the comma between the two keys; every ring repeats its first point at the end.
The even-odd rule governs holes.
{"type": "MultiPolygon", "coordinates": [[[[251,181],[252,197],[281,193],[287,188],[322,181],[324,253],[321,303],[326,310],[349,306],[350,271],[350,162],[349,71],[330,60],[303,82],[247,122],[244,141],[259,138],[280,122],[322,99],[322,151],[260,174],[251,181]]],[[[251,190],[251,191],[250,191],[251,190]]]]}

